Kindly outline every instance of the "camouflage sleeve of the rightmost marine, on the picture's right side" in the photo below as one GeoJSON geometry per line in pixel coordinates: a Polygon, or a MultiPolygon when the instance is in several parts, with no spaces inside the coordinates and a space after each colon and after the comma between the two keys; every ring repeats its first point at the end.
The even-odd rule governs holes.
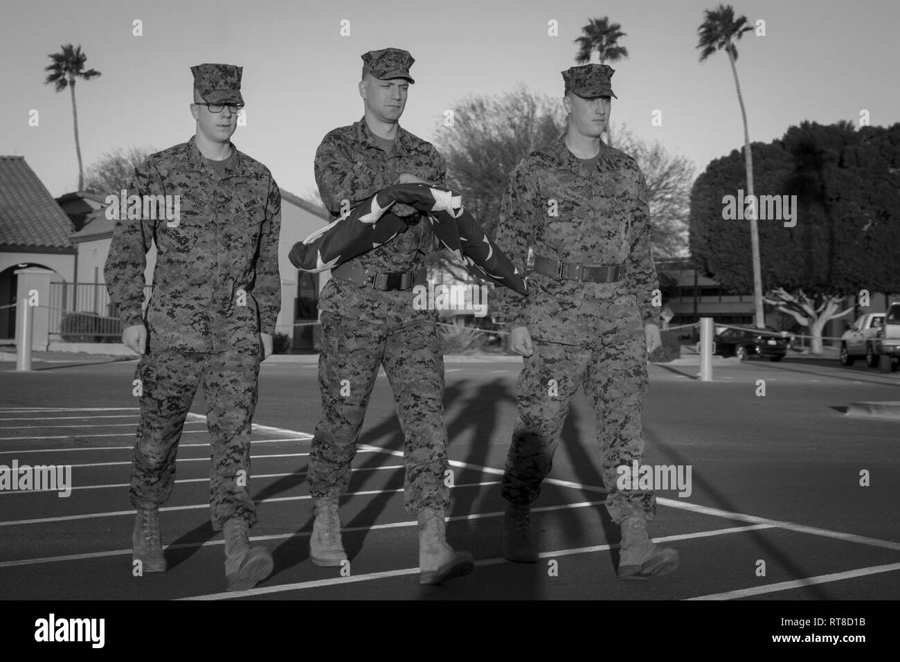
{"type": "Polygon", "coordinates": [[[635,294],[644,324],[659,324],[660,309],[653,305],[654,290],[659,287],[650,249],[649,192],[644,175],[637,171],[637,195],[632,209],[630,250],[626,258],[626,286],[635,294]]]}

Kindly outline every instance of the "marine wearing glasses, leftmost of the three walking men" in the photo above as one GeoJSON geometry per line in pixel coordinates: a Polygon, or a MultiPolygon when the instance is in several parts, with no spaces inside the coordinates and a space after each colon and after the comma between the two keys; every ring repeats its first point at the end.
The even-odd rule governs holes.
{"type": "Polygon", "coordinates": [[[135,168],[127,189],[140,199],[177,196],[179,217],[121,213],[104,276],[126,334],[146,333],[136,372],[142,394],[130,487],[138,509],[134,558],[145,571],[166,569],[157,509],[172,494],[176,449],[202,384],[212,447],[212,527],[225,529],[229,588],[239,589],[271,572],[271,555],[266,560],[266,549],[249,548],[246,531],[257,523],[248,485],[262,334],[270,343],[281,307],[281,193],[268,168],[229,141],[243,105],[242,69],[203,64],[191,70],[196,98],[213,108],[194,105],[197,134],[151,155],[135,168]],[[211,112],[215,107],[219,113],[211,112]],[[226,159],[207,159],[201,146],[226,159]],[[151,242],[157,262],[145,314],[151,242]]]}

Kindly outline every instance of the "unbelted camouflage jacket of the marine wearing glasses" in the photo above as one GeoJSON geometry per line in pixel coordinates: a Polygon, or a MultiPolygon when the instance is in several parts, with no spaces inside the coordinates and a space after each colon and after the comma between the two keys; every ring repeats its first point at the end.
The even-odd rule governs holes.
{"type": "Polygon", "coordinates": [[[194,138],[135,168],[127,195],[177,195],[180,204],[177,222],[121,213],[103,270],[122,324],[146,323],[151,348],[220,352],[275,332],[281,192],[268,168],[232,150],[221,177],[194,138]],[[151,241],[157,262],[142,314],[151,241]]]}

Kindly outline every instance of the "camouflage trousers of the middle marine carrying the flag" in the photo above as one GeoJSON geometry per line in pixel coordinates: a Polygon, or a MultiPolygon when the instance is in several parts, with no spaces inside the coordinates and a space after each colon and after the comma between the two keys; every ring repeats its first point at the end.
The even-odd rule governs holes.
{"type": "Polygon", "coordinates": [[[319,385],[322,420],[310,453],[310,494],[347,492],[350,463],[365,408],[384,365],[403,431],[406,510],[446,510],[448,464],[444,426],[444,357],[432,320],[376,325],[322,313],[319,385]]]}

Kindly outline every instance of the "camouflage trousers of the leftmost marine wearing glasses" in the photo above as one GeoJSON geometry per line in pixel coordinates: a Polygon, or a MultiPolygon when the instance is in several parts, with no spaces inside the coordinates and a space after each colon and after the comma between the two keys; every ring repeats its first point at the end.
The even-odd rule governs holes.
{"type": "Polygon", "coordinates": [[[157,507],[172,494],[178,441],[202,381],[212,446],[212,528],[220,531],[235,516],[257,523],[249,477],[258,375],[256,348],[217,354],[155,351],[140,358],[135,376],[143,394],[130,490],[135,508],[157,507]]]}

